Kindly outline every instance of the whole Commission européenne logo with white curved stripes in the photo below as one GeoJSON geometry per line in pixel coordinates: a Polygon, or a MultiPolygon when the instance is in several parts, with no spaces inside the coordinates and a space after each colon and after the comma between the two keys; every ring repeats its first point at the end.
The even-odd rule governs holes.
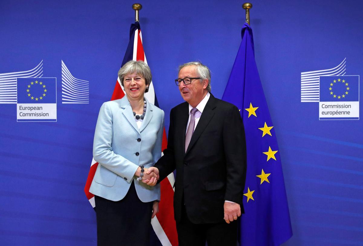
{"type": "Polygon", "coordinates": [[[359,75],[345,74],[346,59],[301,73],[301,102],[319,102],[319,120],[359,120],[359,75]]]}

